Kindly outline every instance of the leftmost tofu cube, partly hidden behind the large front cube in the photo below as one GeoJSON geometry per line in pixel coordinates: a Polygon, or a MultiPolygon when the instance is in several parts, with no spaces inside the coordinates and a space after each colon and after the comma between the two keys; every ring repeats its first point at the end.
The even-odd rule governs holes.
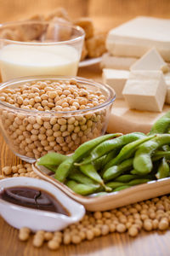
{"type": "Polygon", "coordinates": [[[116,99],[123,98],[122,90],[129,77],[129,71],[126,70],[116,70],[116,69],[103,69],[103,83],[108,84],[116,92],[116,99]]]}

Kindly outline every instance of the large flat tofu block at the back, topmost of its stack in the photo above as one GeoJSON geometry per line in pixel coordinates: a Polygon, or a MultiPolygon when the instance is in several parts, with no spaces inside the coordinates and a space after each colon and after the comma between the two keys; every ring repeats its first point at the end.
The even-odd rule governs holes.
{"type": "Polygon", "coordinates": [[[170,20],[139,16],[112,29],[106,39],[111,55],[141,57],[155,47],[170,61],[170,20]]]}

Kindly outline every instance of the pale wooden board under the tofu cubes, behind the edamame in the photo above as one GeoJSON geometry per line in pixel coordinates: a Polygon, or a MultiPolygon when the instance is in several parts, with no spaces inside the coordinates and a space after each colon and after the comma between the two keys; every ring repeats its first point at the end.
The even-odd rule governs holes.
{"type": "Polygon", "coordinates": [[[164,105],[161,113],[133,110],[128,108],[124,100],[116,100],[111,109],[107,132],[141,131],[147,133],[156,120],[169,110],[170,105],[164,105]]]}

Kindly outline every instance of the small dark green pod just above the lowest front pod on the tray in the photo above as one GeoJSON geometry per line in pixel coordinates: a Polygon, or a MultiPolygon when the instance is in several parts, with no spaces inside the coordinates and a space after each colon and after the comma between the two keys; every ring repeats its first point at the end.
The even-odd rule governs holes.
{"type": "Polygon", "coordinates": [[[94,182],[93,179],[84,175],[82,172],[79,172],[78,170],[71,170],[71,173],[69,174],[68,178],[78,183],[86,185],[94,184],[99,187],[99,183],[94,182]]]}

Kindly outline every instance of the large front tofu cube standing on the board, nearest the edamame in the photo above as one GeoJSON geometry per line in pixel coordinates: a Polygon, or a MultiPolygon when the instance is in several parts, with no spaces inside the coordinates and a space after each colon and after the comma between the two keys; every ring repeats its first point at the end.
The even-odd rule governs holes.
{"type": "Polygon", "coordinates": [[[161,71],[132,71],[122,95],[129,108],[161,112],[167,84],[161,71]]]}

